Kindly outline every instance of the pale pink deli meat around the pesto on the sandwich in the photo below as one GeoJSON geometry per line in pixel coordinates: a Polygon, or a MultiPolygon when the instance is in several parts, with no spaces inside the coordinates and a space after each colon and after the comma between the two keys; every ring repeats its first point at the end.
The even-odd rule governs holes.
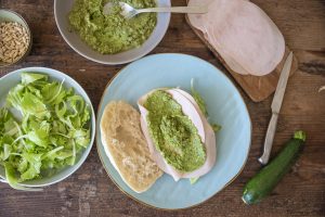
{"type": "MultiPolygon", "coordinates": [[[[167,92],[169,92],[173,99],[181,105],[186,104],[186,110],[195,110],[190,112],[185,112],[184,114],[195,114],[196,112],[199,114],[199,118],[202,117],[202,112],[198,108],[198,105],[195,103],[194,99],[194,103],[196,104],[196,106],[194,106],[193,102],[190,101],[186,97],[184,97],[180,91],[177,91],[178,89],[170,89],[170,90],[166,90],[167,92]],[[174,97],[176,95],[176,97],[174,97]],[[190,103],[190,104],[188,104],[190,103]],[[190,108],[188,108],[190,107],[190,108]],[[198,108],[198,111],[196,110],[198,108]]],[[[188,93],[187,93],[188,94],[188,93]]],[[[147,140],[148,143],[148,149],[150,152],[152,154],[152,158],[156,162],[156,164],[158,165],[158,167],[164,170],[166,174],[169,174],[170,176],[172,176],[172,178],[178,181],[180,178],[196,178],[196,177],[200,177],[205,174],[207,174],[214,165],[216,162],[216,137],[214,137],[214,132],[212,130],[212,128],[210,127],[210,125],[208,124],[208,122],[206,120],[206,118],[204,117],[204,119],[202,119],[203,125],[204,125],[204,130],[205,130],[205,148],[206,148],[206,153],[207,153],[207,158],[205,164],[192,171],[192,173],[180,173],[177,169],[174,169],[172,166],[168,165],[166,163],[166,161],[164,159],[164,157],[161,156],[161,154],[156,150],[154,141],[151,139],[148,129],[147,129],[147,123],[146,123],[146,115],[147,115],[147,111],[145,107],[143,107],[143,103],[145,102],[145,99],[147,98],[148,94],[142,97],[138,104],[140,107],[140,112],[141,112],[141,127],[143,130],[143,133],[147,140]],[[207,127],[208,125],[208,127],[207,127]]]]}

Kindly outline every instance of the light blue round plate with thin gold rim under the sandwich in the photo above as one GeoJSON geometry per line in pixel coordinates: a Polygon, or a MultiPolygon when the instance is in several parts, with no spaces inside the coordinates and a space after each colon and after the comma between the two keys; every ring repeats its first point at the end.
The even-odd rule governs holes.
{"type": "MultiPolygon", "coordinates": [[[[245,102],[230,79],[213,65],[184,54],[156,54],[125,67],[107,86],[98,113],[100,129],[105,105],[113,100],[125,100],[136,107],[136,100],[152,89],[180,87],[190,91],[191,79],[207,103],[211,123],[222,126],[217,133],[217,162],[212,170],[191,186],[188,179],[173,181],[164,175],[144,193],[133,192],[110,164],[96,131],[101,161],[121,191],[146,205],[179,209],[205,202],[221,191],[242,171],[250,148],[251,123],[245,102]]],[[[239,195],[238,195],[239,196],[239,195]]]]}

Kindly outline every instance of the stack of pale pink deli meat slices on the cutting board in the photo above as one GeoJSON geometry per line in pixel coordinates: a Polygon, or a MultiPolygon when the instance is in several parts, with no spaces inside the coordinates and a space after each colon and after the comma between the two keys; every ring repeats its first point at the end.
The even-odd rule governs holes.
{"type": "Polygon", "coordinates": [[[206,39],[236,73],[266,75],[284,56],[283,35],[260,8],[247,0],[214,0],[209,13],[199,20],[188,17],[195,27],[204,26],[198,29],[206,31],[206,39]]]}

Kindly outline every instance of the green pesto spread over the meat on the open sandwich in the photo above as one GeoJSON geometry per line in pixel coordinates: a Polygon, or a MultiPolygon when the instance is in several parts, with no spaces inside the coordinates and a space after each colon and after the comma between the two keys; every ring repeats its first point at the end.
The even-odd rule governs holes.
{"type": "Polygon", "coordinates": [[[162,90],[150,94],[144,107],[148,111],[148,131],[166,162],[179,171],[193,171],[206,162],[205,146],[182,106],[162,90]]]}

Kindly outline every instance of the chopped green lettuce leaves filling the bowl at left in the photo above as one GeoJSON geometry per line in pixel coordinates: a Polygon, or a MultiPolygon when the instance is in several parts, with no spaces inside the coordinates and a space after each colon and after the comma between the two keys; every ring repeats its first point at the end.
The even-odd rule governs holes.
{"type": "Polygon", "coordinates": [[[23,73],[0,108],[0,165],[12,188],[74,165],[90,142],[90,108],[73,89],[43,74],[23,73]],[[22,114],[16,119],[9,108],[22,114]]]}

